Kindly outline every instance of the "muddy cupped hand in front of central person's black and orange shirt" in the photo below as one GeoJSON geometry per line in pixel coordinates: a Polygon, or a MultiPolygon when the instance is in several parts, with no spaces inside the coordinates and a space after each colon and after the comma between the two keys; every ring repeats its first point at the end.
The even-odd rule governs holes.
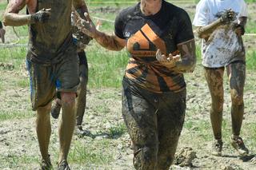
{"type": "Polygon", "coordinates": [[[161,65],[166,66],[168,69],[172,69],[175,67],[176,62],[180,60],[181,55],[173,55],[172,53],[169,53],[168,57],[165,54],[162,54],[160,49],[158,49],[156,53],[156,58],[160,62],[161,65]]]}

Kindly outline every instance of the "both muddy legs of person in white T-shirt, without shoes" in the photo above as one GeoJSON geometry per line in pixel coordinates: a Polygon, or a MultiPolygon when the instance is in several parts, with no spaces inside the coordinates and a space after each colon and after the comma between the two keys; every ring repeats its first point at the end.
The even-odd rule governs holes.
{"type": "MultiPolygon", "coordinates": [[[[205,68],[205,77],[211,94],[210,119],[216,140],[222,139],[222,110],[224,102],[223,89],[224,68],[205,68]]],[[[244,113],[243,89],[246,78],[246,65],[237,61],[226,66],[230,85],[232,132],[239,136],[244,113]]]]}

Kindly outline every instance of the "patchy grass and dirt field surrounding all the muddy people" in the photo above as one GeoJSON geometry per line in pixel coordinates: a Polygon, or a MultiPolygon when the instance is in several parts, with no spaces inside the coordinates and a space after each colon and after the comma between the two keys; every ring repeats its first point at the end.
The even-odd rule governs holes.
{"type": "MultiPolygon", "coordinates": [[[[90,11],[93,11],[91,16],[106,18],[108,20],[114,21],[114,18],[120,9],[133,4],[135,1],[127,2],[123,0],[87,0],[86,2],[90,8],[90,11]],[[109,6],[110,10],[114,9],[116,12],[107,12],[108,10],[95,12],[100,11],[102,6],[104,9],[106,6],[109,6]]],[[[193,19],[195,4],[198,1],[176,0],[170,2],[174,2],[175,4],[184,7],[190,14],[191,19],[193,19]]],[[[254,10],[256,7],[256,1],[250,0],[246,2],[248,2],[250,12],[246,32],[255,34],[256,15],[254,14],[254,10]]],[[[5,8],[6,1],[0,0],[0,13],[3,12],[5,8]]],[[[24,11],[22,12],[24,13],[24,11]]],[[[97,19],[94,19],[94,22],[96,23],[97,19]]],[[[112,33],[113,29],[114,26],[112,22],[102,22],[102,26],[100,27],[100,30],[106,31],[108,33],[112,33]]],[[[11,27],[8,27],[6,33],[7,43],[17,42],[18,44],[26,44],[28,39],[27,27],[21,26],[15,28],[15,30],[18,33],[19,41],[17,42],[18,38],[14,34],[14,30],[11,27]]],[[[255,39],[256,37],[250,36],[246,36],[244,38],[247,51],[247,81],[245,88],[246,121],[243,125],[242,134],[246,136],[246,144],[250,146],[252,152],[256,152],[256,77],[254,77],[254,73],[256,71],[255,39]]],[[[212,140],[212,134],[209,132],[210,122],[208,119],[210,97],[208,89],[206,88],[206,82],[202,76],[202,65],[200,64],[200,42],[197,41],[197,44],[197,69],[193,74],[186,75],[188,84],[188,109],[181,141],[182,146],[190,146],[195,148],[197,151],[202,150],[203,152],[209,153],[208,150],[203,150],[203,148],[207,148],[212,140]],[[196,90],[201,91],[200,93],[194,93],[196,90]],[[193,144],[191,144],[191,139],[194,140],[194,142],[192,142],[193,144]]],[[[4,145],[7,149],[5,151],[6,153],[0,152],[0,168],[26,169],[26,165],[28,164],[30,164],[31,167],[37,167],[40,159],[38,156],[39,151],[36,136],[34,134],[34,125],[30,123],[31,121],[34,121],[32,118],[34,117],[34,114],[30,110],[29,78],[26,73],[25,65],[26,46],[1,48],[1,45],[2,44],[0,44],[0,106],[2,109],[0,110],[0,132],[2,136],[0,136],[0,149],[2,149],[2,145],[4,145]],[[19,126],[22,128],[19,128],[19,126]],[[26,130],[27,134],[24,133],[26,137],[22,136],[23,128],[26,130]],[[12,132],[10,129],[15,130],[12,132]],[[5,132],[11,133],[11,136],[4,136],[5,132]],[[4,138],[7,140],[4,140],[4,138]],[[19,141],[21,141],[22,144],[17,144],[19,141]],[[14,147],[17,148],[13,149],[14,147]],[[22,154],[22,149],[26,149],[26,154],[22,154]],[[17,152],[21,152],[21,154],[17,154],[17,152]]],[[[129,143],[130,140],[127,136],[126,128],[123,124],[122,116],[120,114],[120,88],[124,69],[128,61],[126,49],[123,49],[121,52],[111,52],[103,49],[94,41],[92,41],[90,42],[90,45],[87,46],[86,53],[90,68],[90,78],[88,85],[88,108],[86,109],[87,113],[84,124],[85,127],[93,133],[93,137],[84,137],[82,139],[77,136],[74,137],[74,144],[70,150],[70,163],[75,164],[74,169],[90,169],[102,165],[104,165],[104,169],[122,169],[124,167],[131,169],[129,167],[132,160],[131,158],[126,158],[130,156],[130,150],[127,148],[127,143],[129,143]],[[128,163],[126,163],[126,161],[128,163]],[[116,166],[116,164],[122,164],[122,166],[120,165],[121,168],[113,168],[116,166]],[[80,166],[83,166],[83,168],[80,166]],[[88,166],[88,168],[84,168],[86,166],[88,166]]],[[[225,81],[227,80],[225,79],[225,81]]],[[[227,83],[225,83],[225,92],[225,112],[230,113],[230,98],[227,83]]],[[[57,121],[53,121],[53,124],[54,132],[52,134],[51,144],[55,145],[51,146],[50,151],[52,151],[51,154],[55,161],[56,157],[58,156],[58,135],[56,132],[57,121]]],[[[229,140],[230,138],[230,127],[230,115],[226,114],[223,121],[223,138],[225,140],[229,140]]],[[[181,148],[182,146],[179,147],[181,148]]],[[[229,149],[228,154],[230,154],[230,146],[225,145],[225,147],[226,149],[229,149]]],[[[222,162],[222,160],[214,160],[215,158],[211,157],[210,160],[207,160],[207,157],[202,153],[201,155],[200,153],[198,154],[198,157],[206,162],[205,164],[230,164],[230,162],[239,161],[226,160],[226,162],[222,162]]],[[[223,160],[225,159],[227,158],[223,158],[223,160]]],[[[205,164],[200,163],[198,166],[204,167],[206,166],[205,164]]]]}

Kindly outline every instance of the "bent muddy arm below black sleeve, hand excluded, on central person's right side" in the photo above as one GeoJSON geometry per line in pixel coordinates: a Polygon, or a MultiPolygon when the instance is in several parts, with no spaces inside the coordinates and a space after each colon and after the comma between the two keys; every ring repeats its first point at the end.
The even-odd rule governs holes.
{"type": "Polygon", "coordinates": [[[196,65],[195,42],[194,39],[178,44],[181,59],[176,61],[172,70],[178,73],[189,73],[194,71],[196,65]]]}

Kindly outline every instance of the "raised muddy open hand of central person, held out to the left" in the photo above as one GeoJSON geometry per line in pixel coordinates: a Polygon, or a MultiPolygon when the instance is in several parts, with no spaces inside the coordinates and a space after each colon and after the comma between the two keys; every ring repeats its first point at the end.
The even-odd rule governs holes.
{"type": "Polygon", "coordinates": [[[95,38],[97,30],[94,26],[94,22],[91,21],[88,13],[85,13],[84,16],[86,19],[82,19],[76,11],[71,14],[74,25],[77,26],[83,34],[86,34],[91,38],[95,38]]]}

